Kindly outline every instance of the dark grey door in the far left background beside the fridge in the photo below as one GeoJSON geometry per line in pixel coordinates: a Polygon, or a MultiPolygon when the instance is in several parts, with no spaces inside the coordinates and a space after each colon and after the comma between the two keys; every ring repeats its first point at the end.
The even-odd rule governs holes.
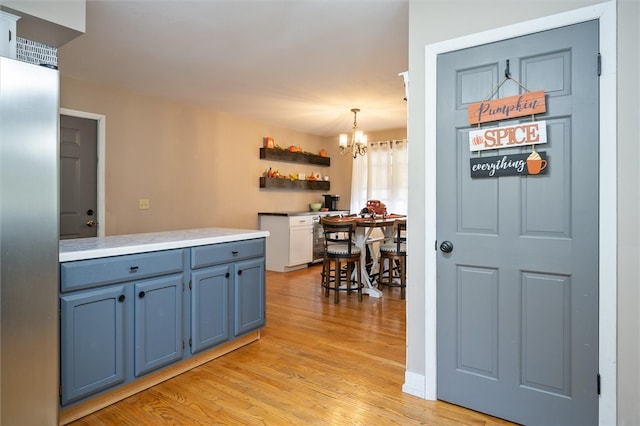
{"type": "Polygon", "coordinates": [[[60,115],[60,239],[95,237],[96,120],[60,115]]]}

